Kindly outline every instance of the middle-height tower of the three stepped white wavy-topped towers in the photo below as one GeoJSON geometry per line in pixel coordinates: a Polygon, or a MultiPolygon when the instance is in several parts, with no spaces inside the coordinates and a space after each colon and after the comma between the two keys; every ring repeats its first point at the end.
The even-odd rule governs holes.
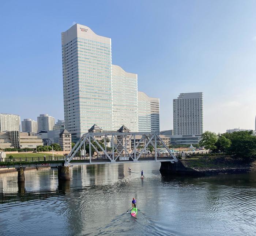
{"type": "Polygon", "coordinates": [[[138,132],[137,74],[112,65],[112,88],[113,130],[125,125],[131,132],[138,132]]]}

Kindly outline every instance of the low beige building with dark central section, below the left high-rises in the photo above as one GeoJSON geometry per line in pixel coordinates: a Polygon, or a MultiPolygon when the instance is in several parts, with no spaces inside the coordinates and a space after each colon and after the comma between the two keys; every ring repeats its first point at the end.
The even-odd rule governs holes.
{"type": "Polygon", "coordinates": [[[7,131],[0,133],[0,148],[36,148],[43,145],[42,139],[33,133],[7,131]]]}

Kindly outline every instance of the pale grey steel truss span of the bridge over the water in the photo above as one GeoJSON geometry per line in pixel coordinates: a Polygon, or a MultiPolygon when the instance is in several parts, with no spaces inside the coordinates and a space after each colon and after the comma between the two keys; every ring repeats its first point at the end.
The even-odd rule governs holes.
{"type": "MultiPolygon", "coordinates": [[[[161,148],[162,150],[162,148],[161,148]]],[[[78,152],[83,161],[74,163],[80,164],[106,164],[106,163],[125,163],[125,162],[178,162],[169,148],[165,145],[157,133],[126,133],[126,132],[103,132],[85,133],[76,142],[71,152],[65,159],[65,166],[73,164],[78,152]],[[164,146],[165,152],[160,152],[157,143],[164,146]],[[110,145],[109,145],[110,144],[110,145]],[[89,153],[84,154],[86,145],[89,145],[89,153]],[[110,147],[107,148],[107,145],[110,147]],[[143,146],[143,148],[139,148],[143,146]],[[153,146],[151,154],[146,153],[149,146],[153,146]],[[94,151],[97,155],[94,155],[94,151]]]]}

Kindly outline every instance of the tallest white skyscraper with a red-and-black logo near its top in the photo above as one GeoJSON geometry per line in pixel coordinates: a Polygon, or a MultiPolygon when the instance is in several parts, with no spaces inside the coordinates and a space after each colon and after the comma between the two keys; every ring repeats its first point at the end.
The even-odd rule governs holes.
{"type": "Polygon", "coordinates": [[[61,42],[65,129],[74,141],[94,123],[113,130],[111,39],[75,24],[61,42]]]}

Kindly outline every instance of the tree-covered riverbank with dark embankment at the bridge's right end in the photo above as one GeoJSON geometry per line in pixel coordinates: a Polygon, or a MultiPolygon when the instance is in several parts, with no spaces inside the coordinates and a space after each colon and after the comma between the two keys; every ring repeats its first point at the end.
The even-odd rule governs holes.
{"type": "Polygon", "coordinates": [[[209,149],[210,153],[204,157],[179,157],[180,161],[174,164],[162,162],[160,172],[197,176],[256,172],[256,136],[252,131],[224,134],[206,131],[199,146],[209,149]],[[219,156],[220,153],[225,155],[219,156]]]}

